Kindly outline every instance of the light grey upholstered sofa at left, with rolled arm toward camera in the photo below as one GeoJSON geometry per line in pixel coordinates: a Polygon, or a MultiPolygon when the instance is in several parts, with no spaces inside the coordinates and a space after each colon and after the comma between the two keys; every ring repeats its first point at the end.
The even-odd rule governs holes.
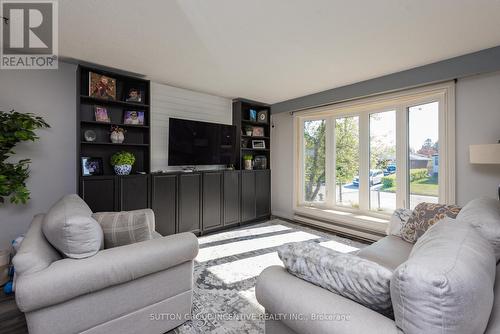
{"type": "Polygon", "coordinates": [[[189,318],[191,233],[63,258],[44,237],[37,215],[14,258],[16,302],[30,334],[165,333],[189,318]],[[174,315],[174,316],[172,316],[174,315]]]}

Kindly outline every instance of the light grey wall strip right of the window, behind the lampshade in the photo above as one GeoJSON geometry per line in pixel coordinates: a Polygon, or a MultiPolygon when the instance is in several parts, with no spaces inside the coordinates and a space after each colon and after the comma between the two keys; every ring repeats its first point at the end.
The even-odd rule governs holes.
{"type": "Polygon", "coordinates": [[[500,139],[500,72],[459,80],[456,99],[457,203],[496,198],[500,165],[471,165],[469,145],[500,139]]]}

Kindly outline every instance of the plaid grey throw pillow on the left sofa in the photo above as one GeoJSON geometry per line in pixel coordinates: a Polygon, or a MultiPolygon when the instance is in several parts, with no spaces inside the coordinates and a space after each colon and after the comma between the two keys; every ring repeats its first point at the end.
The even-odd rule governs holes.
{"type": "Polygon", "coordinates": [[[122,212],[96,212],[92,215],[104,232],[104,248],[129,245],[153,239],[151,209],[122,212]]]}

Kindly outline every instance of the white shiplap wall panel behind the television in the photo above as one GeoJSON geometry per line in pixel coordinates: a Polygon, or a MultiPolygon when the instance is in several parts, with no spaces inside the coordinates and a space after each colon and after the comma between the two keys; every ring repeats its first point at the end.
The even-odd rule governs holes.
{"type": "Polygon", "coordinates": [[[220,96],[151,83],[151,170],[168,167],[170,117],[232,124],[232,102],[220,96]]]}

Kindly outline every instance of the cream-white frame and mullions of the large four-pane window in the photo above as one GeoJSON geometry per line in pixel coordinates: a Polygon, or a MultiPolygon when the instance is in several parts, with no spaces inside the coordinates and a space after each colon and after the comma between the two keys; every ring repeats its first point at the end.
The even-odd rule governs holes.
{"type": "MultiPolygon", "coordinates": [[[[388,93],[374,97],[342,102],[338,104],[308,109],[294,113],[294,131],[293,131],[293,209],[296,213],[316,216],[321,219],[331,219],[346,224],[353,224],[356,227],[372,226],[371,230],[383,232],[388,222],[389,215],[370,211],[367,207],[369,203],[369,192],[365,189],[368,185],[368,175],[363,175],[360,179],[360,208],[352,209],[349,207],[337,206],[335,204],[335,182],[328,182],[334,178],[332,166],[335,161],[335,152],[328,143],[334,140],[334,131],[327,131],[327,150],[325,159],[330,163],[326,164],[327,194],[324,204],[314,204],[314,208],[308,207],[308,203],[303,201],[303,122],[323,117],[327,121],[327,129],[333,127],[335,118],[342,116],[356,116],[359,118],[360,126],[360,170],[367,170],[369,164],[368,136],[369,113],[377,111],[396,110],[396,156],[398,160],[397,178],[397,207],[406,207],[404,198],[406,194],[406,171],[407,167],[407,147],[408,138],[405,129],[408,124],[407,108],[424,104],[428,102],[439,102],[439,201],[445,204],[455,204],[455,82],[446,82],[420,88],[409,89],[405,91],[388,93]],[[363,119],[364,118],[364,119],[363,119]],[[333,138],[331,138],[333,136],[333,138]],[[332,194],[333,191],[333,194],[332,194]],[[375,223],[374,223],[375,222],[375,223]],[[366,224],[365,224],[366,223],[366,224]],[[371,225],[370,225],[371,224],[371,225]]],[[[361,175],[360,175],[361,177],[361,175]]]]}

